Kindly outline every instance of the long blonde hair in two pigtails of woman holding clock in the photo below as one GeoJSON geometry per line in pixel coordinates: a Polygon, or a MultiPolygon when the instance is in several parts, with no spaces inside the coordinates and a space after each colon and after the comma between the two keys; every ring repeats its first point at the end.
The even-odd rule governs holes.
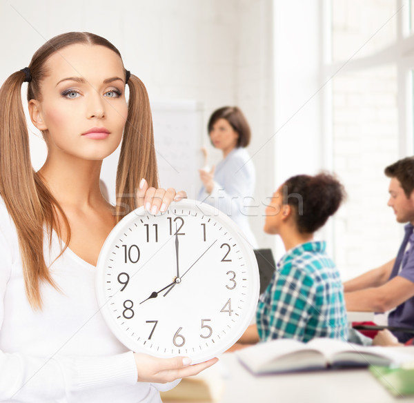
{"type": "MultiPolygon", "coordinates": [[[[40,99],[41,81],[47,75],[45,62],[55,52],[74,43],[106,46],[121,57],[109,41],[89,32],[68,32],[46,42],[30,61],[32,81],[28,83],[28,101],[40,99]]],[[[41,308],[40,286],[48,282],[57,285],[43,257],[44,231],[51,242],[52,229],[61,239],[59,215],[65,226],[68,245],[70,226],[61,206],[52,196],[41,175],[34,172],[30,161],[29,136],[21,102],[21,85],[26,74],[14,72],[0,88],[0,195],[17,228],[23,262],[26,295],[33,308],[41,308]]],[[[117,221],[136,207],[135,192],[141,178],[149,186],[157,186],[157,161],[150,103],[144,83],[131,75],[128,117],[124,128],[121,154],[117,168],[117,221]]]]}

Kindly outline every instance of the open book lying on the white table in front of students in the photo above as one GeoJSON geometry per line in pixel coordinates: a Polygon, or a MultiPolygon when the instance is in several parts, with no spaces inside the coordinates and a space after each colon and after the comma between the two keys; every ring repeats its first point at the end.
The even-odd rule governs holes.
{"type": "Polygon", "coordinates": [[[388,366],[409,360],[395,348],[359,346],[327,337],[315,338],[306,344],[292,339],[272,340],[243,348],[235,354],[257,374],[343,366],[388,366]]]}

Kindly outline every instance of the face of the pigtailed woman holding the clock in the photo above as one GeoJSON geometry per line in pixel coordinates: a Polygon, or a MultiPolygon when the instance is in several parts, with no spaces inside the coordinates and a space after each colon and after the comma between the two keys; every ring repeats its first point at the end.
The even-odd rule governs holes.
{"type": "Polygon", "coordinates": [[[34,126],[43,132],[48,157],[101,160],[121,141],[128,107],[125,70],[104,46],[74,44],[45,64],[41,99],[29,103],[34,126]]]}

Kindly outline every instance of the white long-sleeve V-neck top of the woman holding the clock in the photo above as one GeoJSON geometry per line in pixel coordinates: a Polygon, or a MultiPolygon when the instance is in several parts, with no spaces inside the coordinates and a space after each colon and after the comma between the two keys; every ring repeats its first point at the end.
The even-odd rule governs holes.
{"type": "Polygon", "coordinates": [[[43,309],[25,294],[17,231],[0,199],[0,402],[161,402],[171,384],[137,382],[131,351],[106,326],[95,297],[96,268],[57,235],[46,264],[60,292],[42,284],[43,309]]]}

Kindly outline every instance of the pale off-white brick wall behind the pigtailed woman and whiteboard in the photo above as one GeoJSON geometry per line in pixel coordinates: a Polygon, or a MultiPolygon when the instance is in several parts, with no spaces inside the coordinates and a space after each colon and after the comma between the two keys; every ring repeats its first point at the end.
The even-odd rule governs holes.
{"type": "MultiPolygon", "coordinates": [[[[146,83],[150,99],[200,102],[203,130],[215,108],[241,106],[252,126],[253,154],[273,132],[271,10],[271,0],[1,1],[0,81],[28,66],[50,37],[94,32],[119,48],[126,68],[146,83]]],[[[221,155],[203,134],[213,164],[221,155]]],[[[32,138],[33,164],[39,168],[44,147],[32,138]]],[[[273,192],[273,150],[261,151],[253,161],[259,207],[251,222],[265,246],[273,240],[263,235],[259,200],[268,189],[273,192]]]]}

